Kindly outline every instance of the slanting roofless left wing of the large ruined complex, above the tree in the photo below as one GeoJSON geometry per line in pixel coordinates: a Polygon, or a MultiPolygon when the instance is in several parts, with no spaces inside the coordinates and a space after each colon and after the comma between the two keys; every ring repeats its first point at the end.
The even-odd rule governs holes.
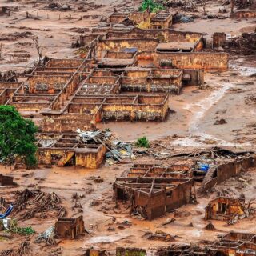
{"type": "Polygon", "coordinates": [[[60,110],[82,75],[86,75],[78,72],[84,62],[83,59],[50,59],[46,66],[33,71],[6,104],[15,106],[23,115],[40,114],[46,109],[60,110]]]}

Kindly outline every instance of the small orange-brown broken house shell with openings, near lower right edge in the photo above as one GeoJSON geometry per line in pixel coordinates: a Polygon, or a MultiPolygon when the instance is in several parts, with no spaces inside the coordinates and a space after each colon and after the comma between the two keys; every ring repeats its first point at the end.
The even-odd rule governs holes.
{"type": "Polygon", "coordinates": [[[244,198],[218,197],[211,200],[206,206],[206,219],[216,219],[234,224],[238,219],[254,214],[254,208],[246,206],[244,198]]]}

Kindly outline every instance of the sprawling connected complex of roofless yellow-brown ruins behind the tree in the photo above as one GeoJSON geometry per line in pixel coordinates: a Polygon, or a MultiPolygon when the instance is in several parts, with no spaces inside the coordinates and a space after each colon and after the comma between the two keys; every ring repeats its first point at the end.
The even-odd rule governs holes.
{"type": "Polygon", "coordinates": [[[25,82],[0,82],[0,103],[39,126],[39,162],[97,168],[106,148],[80,145],[76,130],[102,121],[162,122],[168,94],[226,70],[228,54],[202,51],[201,33],[171,30],[176,12],[118,13],[80,38],[82,58],[50,59],[25,82]]]}

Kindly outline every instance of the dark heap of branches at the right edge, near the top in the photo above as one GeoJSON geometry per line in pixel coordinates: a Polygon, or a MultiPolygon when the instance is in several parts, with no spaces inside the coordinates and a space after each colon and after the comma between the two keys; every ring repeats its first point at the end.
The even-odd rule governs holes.
{"type": "Polygon", "coordinates": [[[234,54],[256,54],[256,32],[243,33],[241,37],[232,38],[227,42],[226,51],[234,54]]]}

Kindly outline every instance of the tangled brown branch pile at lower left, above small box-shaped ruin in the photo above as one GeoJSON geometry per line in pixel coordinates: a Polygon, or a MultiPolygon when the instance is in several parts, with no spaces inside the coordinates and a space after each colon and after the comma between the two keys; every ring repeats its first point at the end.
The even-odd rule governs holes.
{"type": "Polygon", "coordinates": [[[39,214],[40,218],[46,218],[49,211],[54,211],[58,218],[66,216],[66,209],[61,205],[61,199],[54,192],[46,193],[41,190],[23,190],[16,193],[14,213],[21,213],[22,219],[34,218],[39,214]]]}

